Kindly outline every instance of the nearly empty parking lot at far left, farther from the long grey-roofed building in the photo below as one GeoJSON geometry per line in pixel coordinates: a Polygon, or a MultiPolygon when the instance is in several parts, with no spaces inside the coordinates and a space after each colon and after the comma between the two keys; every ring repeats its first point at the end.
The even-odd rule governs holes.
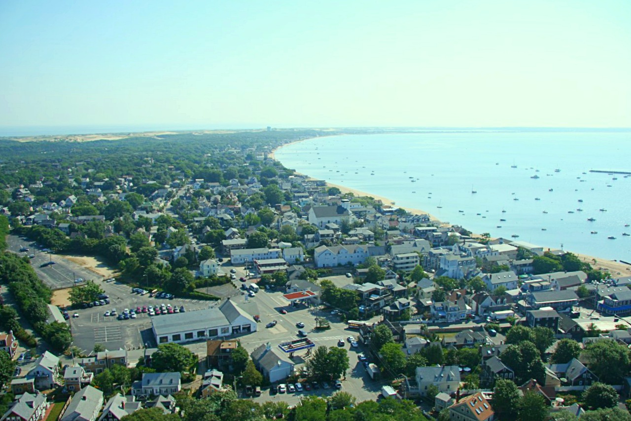
{"type": "Polygon", "coordinates": [[[16,235],[6,237],[8,250],[21,256],[33,257],[30,259],[33,269],[37,275],[53,290],[61,290],[74,285],[74,279],[102,279],[103,277],[88,271],[78,264],[75,264],[54,253],[44,252],[44,247],[39,247],[36,243],[20,238],[16,235]],[[20,252],[20,249],[28,248],[28,251],[20,252]],[[55,262],[43,267],[49,262],[55,262]]]}

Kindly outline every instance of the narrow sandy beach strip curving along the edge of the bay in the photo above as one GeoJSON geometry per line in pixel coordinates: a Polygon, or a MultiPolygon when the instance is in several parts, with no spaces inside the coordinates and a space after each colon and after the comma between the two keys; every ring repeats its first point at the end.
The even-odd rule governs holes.
{"type": "MultiPolygon", "coordinates": [[[[268,157],[270,159],[273,159],[273,161],[278,161],[278,159],[276,159],[275,153],[276,150],[280,149],[281,147],[285,147],[288,145],[292,145],[293,143],[298,143],[298,142],[304,142],[305,140],[310,140],[310,139],[314,139],[314,138],[318,138],[318,137],[310,137],[310,138],[306,138],[306,139],[301,139],[301,140],[294,140],[293,142],[288,142],[285,143],[283,145],[280,145],[278,147],[275,147],[273,150],[271,150],[271,152],[269,152],[268,157]]],[[[283,163],[280,162],[280,164],[282,165],[283,163]]],[[[298,173],[298,171],[295,171],[295,174],[298,174],[300,176],[305,176],[307,178],[312,178],[307,174],[302,174],[302,173],[298,173]]],[[[315,179],[314,179],[315,180],[315,179]]],[[[374,195],[372,193],[369,192],[362,192],[361,190],[357,190],[354,188],[350,188],[350,187],[346,187],[346,186],[342,186],[342,185],[336,185],[333,183],[329,183],[329,181],[324,180],[326,183],[327,188],[328,187],[337,187],[339,188],[339,190],[342,193],[353,193],[353,195],[355,196],[365,196],[365,197],[372,197],[375,200],[381,200],[384,204],[392,204],[392,203],[396,203],[393,200],[386,198],[386,197],[382,197],[379,195],[374,195]]],[[[411,212],[412,214],[417,214],[417,215],[423,215],[423,214],[427,214],[430,217],[430,221],[432,222],[438,222],[440,223],[441,221],[439,219],[437,219],[435,216],[433,216],[432,214],[430,214],[430,212],[425,212],[424,210],[421,209],[415,209],[415,208],[410,208],[410,207],[404,207],[404,206],[400,206],[401,209],[405,209],[408,210],[408,212],[411,212]]],[[[451,224],[453,225],[453,224],[451,224]]],[[[472,237],[481,237],[481,235],[479,233],[471,233],[472,237]]],[[[492,236],[492,238],[498,238],[495,236],[492,236]]],[[[546,247],[543,246],[543,248],[548,248],[549,250],[553,250],[553,248],[551,247],[546,247]]],[[[567,250],[565,250],[567,252],[567,250]]],[[[618,260],[609,260],[609,259],[603,259],[600,257],[594,257],[591,255],[586,255],[584,253],[578,253],[578,252],[569,252],[569,253],[573,253],[575,254],[579,259],[585,261],[585,262],[589,262],[590,264],[593,264],[593,261],[596,261],[596,264],[593,264],[594,269],[596,269],[597,267],[604,267],[606,268],[610,274],[612,278],[616,278],[616,276],[631,276],[631,265],[627,265],[627,264],[623,264],[621,262],[619,262],[618,260]]]]}

